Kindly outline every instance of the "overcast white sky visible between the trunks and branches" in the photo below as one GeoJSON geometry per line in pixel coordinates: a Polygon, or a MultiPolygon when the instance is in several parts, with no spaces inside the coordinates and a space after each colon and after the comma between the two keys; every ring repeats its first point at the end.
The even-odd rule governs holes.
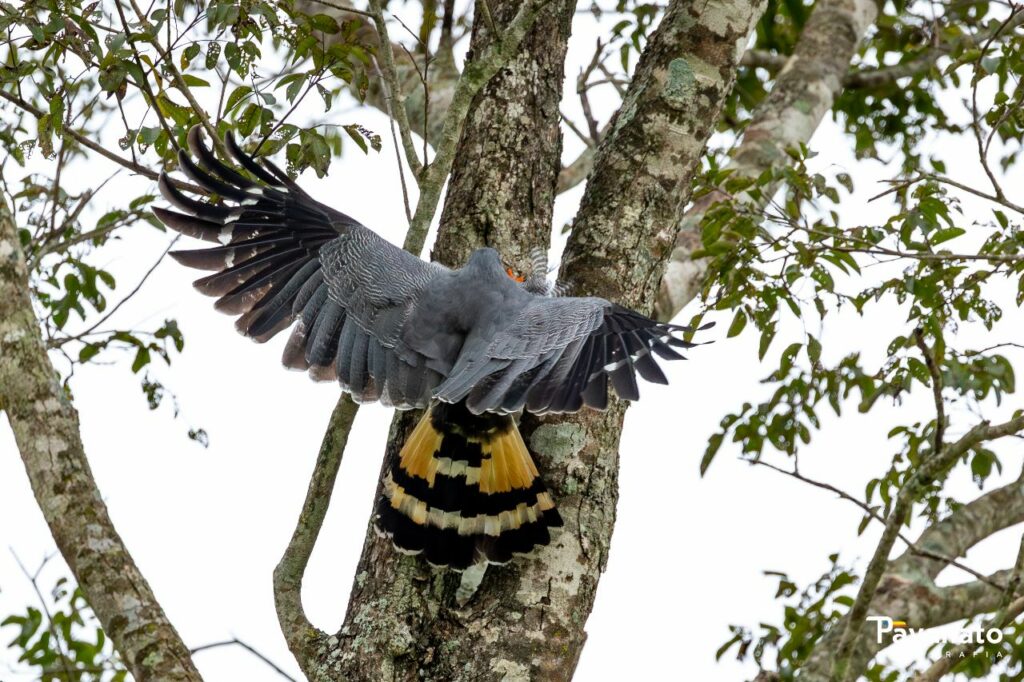
{"type": "MultiPolygon", "coordinates": [[[[580,22],[567,70],[573,80],[596,37],[589,18],[580,22]]],[[[384,117],[370,110],[339,108],[332,119],[386,133],[384,117]]],[[[112,139],[120,134],[112,131],[112,139]]],[[[306,173],[300,181],[314,197],[400,243],[406,221],[390,136],[383,138],[381,154],[364,156],[351,150],[334,163],[329,178],[316,180],[306,173]]],[[[571,158],[578,146],[570,136],[566,146],[566,158],[571,158]]],[[[822,152],[817,167],[843,169],[854,177],[857,189],[844,198],[841,209],[848,224],[887,215],[887,205],[868,204],[866,199],[879,191],[879,181],[891,176],[889,170],[855,161],[851,143],[831,122],[822,126],[812,146],[822,152]]],[[[944,142],[942,148],[956,176],[967,181],[977,177],[970,145],[944,142]]],[[[73,186],[96,177],[93,166],[76,170],[79,175],[69,178],[73,186]]],[[[100,206],[116,207],[141,186],[137,179],[123,182],[104,191],[100,206]]],[[[559,198],[557,227],[570,219],[581,195],[578,188],[559,198]]],[[[977,204],[965,206],[979,219],[988,216],[977,204]]],[[[969,212],[965,222],[972,217],[969,212]]],[[[168,241],[169,236],[139,226],[104,248],[100,262],[117,274],[119,291],[126,291],[168,241]]],[[[560,241],[554,245],[555,253],[561,246],[560,241]]],[[[298,676],[278,629],[270,576],[294,527],[337,389],[283,370],[279,358],[284,338],[259,346],[236,334],[230,318],[215,312],[212,300],[191,289],[195,276],[165,262],[117,318],[126,327],[153,326],[165,317],[180,324],[185,350],[174,357],[172,368],[158,368],[155,375],[177,395],[181,416],[173,419],[169,404],[155,413],[146,409],[129,363],[89,366],[72,382],[82,436],[118,530],[185,642],[198,646],[237,636],[298,676]],[[208,450],[185,437],[189,426],[209,432],[208,450]]],[[[642,386],[642,399],[629,412],[611,555],[577,676],[584,682],[753,677],[750,665],[731,658],[716,664],[714,653],[728,639],[728,625],[756,627],[777,620],[775,580],[763,571],[786,571],[798,583],[806,582],[827,568],[831,552],[840,552],[847,564],[862,565],[877,541],[874,528],[855,537],[860,513],[853,505],[739,462],[729,444],[709,475],[698,476],[705,443],[719,420],[744,400],[765,397],[759,380],[777,367],[775,353],[763,365],[757,361],[756,336],[724,339],[731,315],[714,318],[719,327],[709,336],[719,341],[694,349],[687,363],[668,366],[671,385],[642,386]]],[[[1008,308],[1000,327],[1020,329],[1022,322],[1017,309],[1008,308]]],[[[823,328],[807,331],[820,335],[825,359],[857,349],[878,359],[888,340],[908,329],[903,311],[890,307],[873,310],[868,319],[835,315],[823,328]]],[[[785,318],[775,351],[800,340],[803,332],[785,318]]],[[[970,327],[964,333],[982,338],[970,327]]],[[[887,467],[893,452],[886,440],[889,429],[929,418],[928,407],[929,396],[918,391],[904,404],[867,417],[854,410],[842,419],[825,416],[823,430],[802,452],[802,471],[862,493],[864,483],[887,467]]],[[[390,416],[379,407],[359,412],[306,576],[307,611],[330,632],[338,629],[344,614],[390,416]]],[[[1008,474],[1016,475],[1019,446],[1017,452],[1001,452],[1008,474]]],[[[966,495],[977,491],[967,476],[953,485],[966,495]]],[[[31,586],[6,547],[27,564],[37,565],[54,552],[54,545],[3,417],[0,519],[0,614],[6,614],[24,611],[34,602],[31,586]]],[[[1005,567],[1012,562],[1016,544],[1012,535],[1002,534],[977,548],[969,561],[982,571],[1005,567]]],[[[48,589],[66,574],[57,557],[41,586],[48,589]]],[[[950,574],[948,580],[961,579],[950,574]]],[[[12,630],[0,630],[4,644],[12,636],[12,630]]],[[[907,660],[925,641],[922,636],[893,647],[892,657],[907,660]]],[[[200,653],[197,664],[209,680],[280,679],[237,648],[200,653]]],[[[0,649],[0,680],[29,679],[18,671],[24,669],[12,652],[0,649]]]]}

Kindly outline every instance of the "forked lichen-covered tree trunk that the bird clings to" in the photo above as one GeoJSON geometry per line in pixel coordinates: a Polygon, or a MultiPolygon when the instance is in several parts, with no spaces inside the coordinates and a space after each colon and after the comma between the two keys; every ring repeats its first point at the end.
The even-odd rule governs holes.
{"type": "MultiPolygon", "coordinates": [[[[509,4],[492,4],[498,26],[514,10],[509,4]]],[[[519,57],[474,102],[434,249],[438,259],[461,262],[486,244],[521,266],[530,246],[547,244],[573,3],[549,9],[519,57]]],[[[672,244],[671,233],[662,236],[662,220],[669,216],[671,225],[678,218],[731,86],[738,46],[759,12],[760,4],[741,1],[676,2],[667,11],[628,93],[631,109],[620,115],[598,155],[597,188],[585,200],[563,270],[578,289],[649,309],[672,244]],[[618,208],[602,212],[607,204],[618,208]],[[597,265],[592,252],[605,260],[597,265]]],[[[482,22],[475,31],[474,49],[487,39],[482,22]]],[[[544,550],[490,567],[464,607],[455,598],[457,573],[400,556],[369,530],[345,625],[318,652],[321,679],[570,678],[607,557],[624,413],[615,403],[606,413],[569,420],[523,418],[521,428],[558,497],[565,528],[544,550]]],[[[388,457],[396,455],[411,424],[396,420],[388,457]]]]}

